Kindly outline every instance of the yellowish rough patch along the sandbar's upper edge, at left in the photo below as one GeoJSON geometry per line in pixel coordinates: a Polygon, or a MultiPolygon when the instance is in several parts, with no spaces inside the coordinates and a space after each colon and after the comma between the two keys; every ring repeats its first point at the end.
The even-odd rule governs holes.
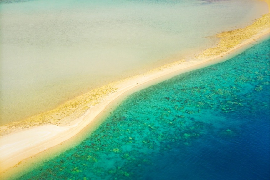
{"type": "Polygon", "coordinates": [[[100,88],[96,88],[88,93],[67,101],[53,110],[29,117],[24,121],[12,122],[0,126],[0,135],[2,136],[19,129],[45,124],[56,124],[59,126],[67,125],[117,90],[116,86],[117,85],[115,83],[111,83],[100,88]]]}

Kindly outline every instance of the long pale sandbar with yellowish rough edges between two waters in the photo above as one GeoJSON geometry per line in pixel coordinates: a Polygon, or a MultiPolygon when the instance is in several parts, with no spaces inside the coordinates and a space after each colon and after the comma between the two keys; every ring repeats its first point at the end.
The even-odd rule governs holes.
{"type": "MultiPolygon", "coordinates": [[[[266,1],[268,5],[270,1],[266,1]]],[[[16,168],[22,160],[46,151],[93,123],[109,105],[134,91],[175,75],[220,63],[240,54],[257,40],[270,35],[270,13],[242,29],[217,34],[216,47],[206,49],[193,59],[176,59],[174,63],[153,69],[90,91],[58,108],[0,127],[0,173],[16,168]]]]}

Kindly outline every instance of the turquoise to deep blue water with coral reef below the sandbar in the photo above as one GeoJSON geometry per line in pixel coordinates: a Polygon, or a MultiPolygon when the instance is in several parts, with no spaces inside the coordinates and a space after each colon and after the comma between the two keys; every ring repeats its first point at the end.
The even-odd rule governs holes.
{"type": "Polygon", "coordinates": [[[78,146],[18,180],[269,179],[269,44],[130,95],[78,146]]]}

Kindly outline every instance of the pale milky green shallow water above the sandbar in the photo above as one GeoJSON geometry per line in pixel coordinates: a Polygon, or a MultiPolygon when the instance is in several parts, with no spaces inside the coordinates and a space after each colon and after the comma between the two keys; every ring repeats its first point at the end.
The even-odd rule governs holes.
{"type": "Polygon", "coordinates": [[[1,124],[190,55],[266,12],[253,0],[1,3],[1,124]]]}

